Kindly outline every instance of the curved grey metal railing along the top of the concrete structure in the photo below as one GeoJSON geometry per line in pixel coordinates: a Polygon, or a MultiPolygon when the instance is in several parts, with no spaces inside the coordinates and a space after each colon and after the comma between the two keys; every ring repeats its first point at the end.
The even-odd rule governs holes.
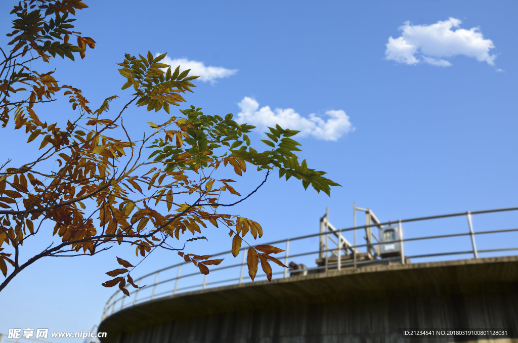
{"type": "MultiPolygon", "coordinates": [[[[480,254],[480,253],[491,253],[491,252],[494,253],[494,252],[503,252],[503,251],[518,251],[518,247],[495,248],[495,249],[477,249],[476,248],[476,244],[475,244],[475,239],[474,239],[475,235],[498,234],[498,233],[503,234],[503,233],[518,232],[518,228],[506,228],[506,229],[501,229],[501,230],[490,230],[490,231],[486,230],[486,231],[474,232],[473,231],[473,227],[472,227],[472,222],[471,222],[471,216],[472,215],[481,215],[481,214],[484,214],[484,213],[506,212],[506,211],[516,211],[516,210],[518,210],[518,207],[498,208],[498,209],[490,209],[490,210],[482,210],[482,211],[472,211],[472,212],[470,212],[470,211],[467,211],[467,212],[457,212],[457,213],[450,213],[448,215],[411,218],[411,219],[404,219],[404,220],[389,221],[389,222],[384,222],[384,223],[376,223],[376,224],[370,224],[370,225],[348,227],[348,228],[337,229],[337,231],[341,235],[343,233],[350,232],[350,231],[353,231],[353,230],[362,230],[362,229],[365,229],[365,228],[368,228],[368,227],[373,227],[373,226],[378,226],[379,227],[379,226],[382,226],[382,225],[391,225],[391,224],[396,224],[396,223],[398,225],[401,225],[402,223],[409,223],[409,222],[416,222],[416,221],[425,221],[425,220],[433,220],[433,219],[441,219],[441,218],[467,216],[468,224],[469,224],[469,231],[468,232],[465,231],[465,232],[462,232],[462,233],[454,233],[454,234],[449,234],[449,235],[433,235],[433,236],[421,236],[421,237],[412,237],[412,238],[401,238],[399,240],[395,240],[395,241],[392,241],[392,242],[394,242],[394,243],[400,242],[401,245],[403,245],[404,243],[408,244],[409,242],[423,241],[423,240],[427,240],[427,239],[429,240],[429,239],[440,239],[440,238],[453,238],[453,237],[470,236],[471,237],[471,243],[472,243],[472,249],[471,250],[449,251],[449,252],[431,253],[431,254],[419,254],[419,255],[410,255],[410,256],[405,255],[405,258],[406,258],[406,260],[410,260],[410,259],[422,259],[422,258],[433,258],[433,257],[437,258],[438,256],[451,256],[451,255],[462,255],[462,254],[473,254],[474,258],[478,258],[478,254],[480,254]]],[[[304,240],[304,239],[308,239],[308,238],[313,238],[313,237],[320,237],[322,235],[328,235],[328,234],[329,234],[329,232],[321,232],[321,233],[316,233],[316,234],[311,234],[311,235],[298,236],[298,237],[293,237],[293,238],[287,238],[287,239],[272,241],[272,242],[269,242],[267,245],[278,245],[278,244],[282,244],[282,243],[286,244],[285,255],[281,256],[281,258],[279,258],[279,260],[282,261],[284,259],[284,264],[287,265],[289,258],[291,258],[291,259],[293,259],[293,258],[301,258],[303,256],[322,254],[322,253],[325,253],[326,256],[328,255],[328,253],[332,253],[332,254],[337,255],[336,253],[338,253],[340,251],[340,248],[338,246],[337,246],[336,249],[316,250],[316,251],[309,251],[309,252],[308,251],[302,251],[302,252],[294,253],[294,254],[291,254],[291,255],[289,254],[290,253],[289,252],[290,244],[292,244],[291,249],[293,251],[293,242],[294,241],[300,241],[300,240],[304,240]]],[[[377,244],[375,244],[375,245],[377,245],[377,244]]],[[[352,248],[353,249],[359,249],[359,248],[367,248],[368,246],[369,246],[369,244],[358,244],[358,245],[352,246],[352,248]]],[[[370,244],[370,246],[372,246],[372,244],[370,244]]],[[[405,248],[405,251],[406,250],[407,250],[407,248],[405,248]]],[[[223,255],[229,255],[231,253],[232,253],[231,250],[228,250],[228,251],[225,251],[225,252],[220,252],[220,253],[212,255],[212,258],[215,258],[215,257],[218,257],[218,256],[223,256],[223,255]]],[[[177,264],[174,264],[174,265],[171,265],[171,266],[159,269],[159,270],[155,270],[152,273],[146,274],[146,275],[144,275],[144,276],[142,276],[142,277],[140,277],[138,279],[135,279],[134,282],[136,284],[140,285],[140,283],[144,279],[149,278],[151,276],[155,276],[155,280],[154,280],[154,282],[152,284],[148,284],[145,287],[143,287],[142,289],[136,289],[134,291],[130,291],[130,294],[134,294],[132,302],[128,302],[128,303],[124,304],[125,303],[125,299],[127,298],[127,296],[121,295],[121,292],[119,292],[119,291],[117,291],[112,296],[110,296],[110,298],[108,299],[108,301],[106,303],[105,309],[103,311],[103,319],[106,318],[107,316],[109,316],[111,313],[113,313],[115,311],[121,310],[121,309],[123,309],[125,307],[128,307],[128,306],[133,306],[137,302],[140,303],[140,302],[146,301],[148,299],[154,299],[154,298],[159,297],[159,296],[175,295],[177,293],[181,293],[182,290],[194,291],[194,290],[199,290],[199,289],[206,289],[208,285],[211,285],[211,287],[214,287],[214,285],[221,284],[221,283],[227,283],[227,284],[234,284],[235,282],[242,283],[243,282],[243,270],[244,270],[244,266],[246,265],[246,259],[245,259],[246,253],[243,251],[242,254],[243,254],[243,260],[242,260],[241,263],[232,264],[232,265],[225,265],[225,266],[216,267],[216,268],[211,268],[211,270],[210,270],[210,275],[212,277],[214,274],[217,274],[221,270],[241,267],[241,273],[240,273],[239,277],[234,277],[234,278],[229,278],[229,279],[224,279],[224,280],[219,280],[219,281],[207,282],[207,277],[208,276],[205,275],[203,283],[199,282],[199,283],[194,284],[194,285],[190,284],[190,285],[187,285],[185,287],[178,288],[178,283],[179,283],[180,280],[185,280],[185,279],[193,277],[193,276],[198,276],[198,277],[202,277],[203,276],[202,274],[199,273],[199,271],[195,271],[194,273],[190,273],[190,274],[181,275],[181,268],[182,268],[182,266],[186,265],[186,264],[191,264],[191,262],[181,262],[181,263],[177,263],[177,264]],[[161,280],[160,282],[158,281],[160,273],[164,273],[167,270],[175,269],[175,268],[178,269],[176,277],[168,278],[166,280],[161,280]],[[166,284],[166,283],[170,283],[172,281],[175,282],[174,288],[171,287],[172,289],[169,288],[166,291],[161,292],[161,293],[156,293],[155,292],[157,286],[163,285],[163,284],[166,284]],[[142,293],[145,290],[152,290],[151,295],[150,296],[148,295],[148,296],[143,297],[143,298],[142,297],[138,298],[138,294],[142,293]],[[121,297],[117,298],[117,295],[121,295],[121,297]],[[119,302],[120,302],[120,307],[118,305],[119,302]],[[110,311],[110,309],[111,309],[111,311],[110,311]]],[[[340,255],[341,255],[341,253],[338,253],[337,256],[340,256],[340,255]]],[[[338,259],[339,258],[340,257],[338,257],[338,259]]],[[[370,260],[370,261],[369,260],[368,261],[356,261],[355,260],[354,262],[350,262],[350,263],[338,263],[337,267],[338,267],[338,269],[343,268],[343,267],[354,267],[354,268],[356,268],[356,267],[362,266],[362,265],[368,265],[368,264],[372,264],[372,263],[379,263],[380,261],[381,260],[370,260]]],[[[390,263],[392,261],[401,261],[401,263],[405,263],[405,259],[402,259],[402,258],[399,258],[399,257],[391,258],[391,259],[383,259],[383,262],[389,262],[390,263]]],[[[319,267],[314,267],[314,268],[307,268],[306,270],[307,270],[307,272],[321,271],[321,270],[327,270],[328,267],[329,267],[328,265],[324,265],[324,266],[319,266],[319,267]]],[[[273,271],[272,272],[272,278],[278,278],[279,276],[280,277],[287,277],[287,273],[288,273],[287,269],[284,269],[284,270],[281,270],[281,271],[273,271]]],[[[300,273],[300,271],[298,271],[298,272],[291,271],[291,273],[300,273]]],[[[264,277],[264,276],[257,274],[256,279],[262,278],[262,277],[264,277]]]]}

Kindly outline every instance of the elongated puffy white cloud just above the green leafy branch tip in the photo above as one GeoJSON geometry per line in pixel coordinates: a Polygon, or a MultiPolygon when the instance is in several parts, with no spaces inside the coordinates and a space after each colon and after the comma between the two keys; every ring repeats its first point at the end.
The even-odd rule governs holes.
{"type": "Polygon", "coordinates": [[[282,128],[297,130],[297,137],[313,136],[317,139],[336,141],[342,135],[354,131],[349,117],[343,110],[329,110],[325,112],[327,120],[311,113],[309,118],[304,118],[292,108],[274,111],[269,106],[259,108],[259,103],[248,96],[238,104],[241,112],[237,114],[239,121],[257,126],[262,132],[269,132],[269,127],[279,124],[282,128]]]}

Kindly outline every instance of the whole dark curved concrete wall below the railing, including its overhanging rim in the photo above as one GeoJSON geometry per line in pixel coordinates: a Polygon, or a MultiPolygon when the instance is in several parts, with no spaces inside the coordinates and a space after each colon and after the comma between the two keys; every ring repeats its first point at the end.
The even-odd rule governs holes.
{"type": "Polygon", "coordinates": [[[398,328],[512,329],[518,256],[365,269],[180,294],[124,309],[99,331],[111,343],[453,342],[399,338],[398,328]]]}

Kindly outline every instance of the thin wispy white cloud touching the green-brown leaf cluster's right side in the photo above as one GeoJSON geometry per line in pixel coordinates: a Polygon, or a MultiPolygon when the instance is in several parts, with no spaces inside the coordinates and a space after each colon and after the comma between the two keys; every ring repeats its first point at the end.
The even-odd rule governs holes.
{"type": "MultiPolygon", "coordinates": [[[[156,56],[161,55],[161,53],[156,53],[156,56]]],[[[210,82],[214,84],[216,79],[229,77],[237,73],[237,69],[226,69],[223,67],[214,67],[214,66],[206,66],[203,62],[198,61],[190,61],[188,59],[170,59],[169,56],[165,56],[165,58],[160,61],[160,63],[169,64],[171,66],[171,70],[175,70],[176,67],[180,66],[180,73],[183,70],[191,69],[189,72],[190,76],[199,75],[199,78],[196,80],[200,80],[203,82],[210,82]]]]}

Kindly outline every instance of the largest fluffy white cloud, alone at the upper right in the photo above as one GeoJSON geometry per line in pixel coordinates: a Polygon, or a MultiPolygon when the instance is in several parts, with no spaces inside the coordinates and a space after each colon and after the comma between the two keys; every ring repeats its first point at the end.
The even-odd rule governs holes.
{"type": "Polygon", "coordinates": [[[461,23],[455,18],[431,25],[410,25],[407,21],[399,27],[402,31],[400,37],[389,37],[386,59],[406,64],[425,62],[449,67],[452,64],[443,58],[465,55],[494,65],[496,55],[490,54],[490,50],[495,48],[493,41],[484,39],[478,27],[466,30],[460,28],[461,23]]]}

